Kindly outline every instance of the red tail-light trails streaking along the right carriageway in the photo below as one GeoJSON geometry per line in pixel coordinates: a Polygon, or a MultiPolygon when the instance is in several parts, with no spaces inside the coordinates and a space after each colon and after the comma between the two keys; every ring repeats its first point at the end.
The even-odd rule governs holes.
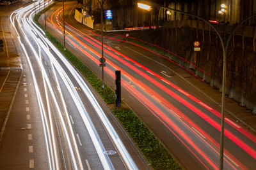
{"type": "MultiPolygon", "coordinates": [[[[67,8],[67,6],[65,8],[67,8]]],[[[47,20],[47,24],[60,33],[62,32],[62,23],[59,19],[61,18],[61,11],[61,8],[59,8],[54,13],[52,13],[51,19],[48,18],[47,20]],[[54,15],[56,16],[53,17],[54,15]],[[56,19],[56,22],[53,18],[56,19]]],[[[100,54],[95,49],[100,49],[100,42],[97,41],[97,39],[92,38],[92,36],[89,36],[88,34],[79,31],[67,22],[66,24],[67,26],[65,33],[68,35],[68,41],[73,46],[76,46],[76,48],[83,52],[87,57],[93,60],[95,64],[98,65],[100,54]]],[[[186,148],[188,148],[188,150],[193,155],[195,155],[198,161],[202,162],[202,164],[206,168],[210,165],[213,169],[218,169],[218,151],[220,148],[218,142],[209,134],[207,134],[207,132],[205,132],[199,125],[196,125],[196,123],[193,122],[193,120],[191,120],[188,116],[186,116],[185,113],[182,113],[182,111],[180,111],[177,107],[173,106],[173,104],[168,102],[155,90],[151,89],[148,85],[145,85],[143,81],[138,80],[135,76],[129,74],[127,71],[125,71],[126,68],[123,68],[122,66],[129,67],[129,69],[132,69],[134,73],[143,76],[144,79],[150,81],[150,83],[156,85],[156,87],[158,87],[160,90],[163,90],[164,92],[166,92],[166,94],[172,96],[173,99],[179,101],[179,103],[182,103],[183,106],[193,111],[193,113],[196,113],[196,115],[202,118],[202,120],[205,120],[205,122],[207,122],[217,131],[220,131],[220,124],[217,122],[218,120],[220,120],[218,119],[220,118],[220,113],[211,108],[211,106],[208,106],[204,102],[189,94],[189,92],[180,89],[179,87],[177,87],[177,85],[174,85],[159,74],[154,73],[154,71],[148,69],[139,62],[132,60],[131,58],[125,56],[120,52],[117,52],[116,50],[107,45],[104,45],[104,47],[104,52],[106,53],[105,57],[107,59],[106,62],[108,66],[106,67],[106,73],[108,73],[111,77],[115,78],[114,70],[121,70],[122,75],[124,76],[124,78],[122,79],[123,87],[127,91],[131,92],[132,96],[138,99],[141,104],[148,108],[148,110],[150,110],[153,115],[155,115],[161,122],[163,122],[163,124],[170,131],[172,131],[172,133],[177,136],[177,138],[179,138],[180,142],[182,142],[184,146],[186,146],[186,148]],[[116,65],[116,60],[122,64],[116,65]],[[141,69],[143,69],[143,71],[141,71],[141,69]],[[163,85],[162,83],[165,83],[165,85],[163,85]],[[177,93],[181,95],[177,95],[177,93]],[[190,101],[193,101],[193,103],[196,104],[193,105],[190,103],[190,101]],[[209,113],[211,113],[212,115],[209,116],[209,113]],[[173,122],[173,118],[175,120],[178,120],[178,123],[173,122]],[[190,132],[190,134],[184,133],[182,130],[184,128],[186,128],[190,132]],[[200,144],[195,143],[195,140],[191,139],[191,136],[195,136],[196,138],[200,139],[202,142],[201,144],[207,146],[207,150],[214,153],[214,157],[208,157],[206,150],[204,150],[200,146],[200,144]],[[209,165],[205,164],[205,162],[207,162],[207,164],[209,165]]],[[[251,157],[253,157],[253,159],[256,159],[255,146],[252,147],[252,145],[248,145],[248,143],[255,144],[255,136],[253,136],[253,134],[248,132],[243,127],[240,127],[236,123],[232,122],[232,120],[229,120],[228,118],[225,118],[225,123],[228,125],[228,129],[225,130],[225,136],[233,143],[236,143],[237,146],[239,146],[241,149],[244,150],[244,152],[248,153],[251,157]],[[243,136],[243,139],[245,140],[243,141],[242,139],[239,139],[237,137],[237,134],[239,134],[239,136],[243,136]]],[[[246,166],[239,162],[239,160],[237,160],[236,157],[232,155],[232,153],[228,152],[228,150],[225,150],[225,162],[228,169],[246,169],[246,166]]]]}

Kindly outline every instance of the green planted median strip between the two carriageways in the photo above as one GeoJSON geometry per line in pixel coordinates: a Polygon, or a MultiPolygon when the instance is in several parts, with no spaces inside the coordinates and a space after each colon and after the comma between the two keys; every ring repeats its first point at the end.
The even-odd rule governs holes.
{"type": "MultiPolygon", "coordinates": [[[[51,6],[49,6],[50,8],[51,6]]],[[[47,10],[47,9],[45,9],[47,10]]],[[[42,11],[41,13],[43,13],[42,11]]],[[[40,13],[37,14],[40,16],[40,13]]],[[[35,17],[36,24],[43,28],[38,22],[38,17],[35,17]]],[[[64,50],[63,45],[52,36],[49,32],[45,31],[47,38],[67,57],[68,60],[84,75],[86,80],[92,85],[92,87],[99,93],[104,102],[108,106],[115,104],[115,92],[111,90],[107,85],[102,90],[102,81],[97,77],[87,66],[84,65],[81,60],[77,59],[69,50],[64,50]]],[[[181,169],[179,164],[175,162],[166,148],[159,142],[154,134],[141,122],[140,118],[136,114],[127,108],[115,108],[112,110],[121,124],[129,132],[131,138],[134,140],[138,148],[145,155],[149,162],[149,166],[153,169],[181,169]]]]}

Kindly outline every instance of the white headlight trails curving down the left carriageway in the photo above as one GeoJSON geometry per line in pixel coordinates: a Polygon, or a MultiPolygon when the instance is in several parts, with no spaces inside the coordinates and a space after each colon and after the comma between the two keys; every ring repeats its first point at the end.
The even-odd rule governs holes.
{"type": "MultiPolygon", "coordinates": [[[[44,4],[47,2],[38,1],[38,4],[44,4]]],[[[51,1],[49,2],[51,3],[51,1]]],[[[40,8],[36,4],[36,11],[40,8]]],[[[74,136],[74,132],[72,129],[72,125],[70,123],[70,118],[68,117],[67,105],[65,103],[65,99],[63,97],[63,92],[60,87],[59,79],[64,82],[65,87],[68,89],[70,96],[72,97],[74,103],[76,104],[76,108],[79,111],[81,118],[83,119],[84,125],[86,126],[90,138],[93,141],[93,145],[95,146],[95,150],[97,150],[97,154],[99,155],[100,162],[104,169],[114,169],[111,160],[108,155],[104,153],[106,149],[101,142],[99,134],[95,130],[92,120],[90,119],[86,108],[84,107],[84,103],[81,100],[81,97],[77,93],[74,82],[70,80],[70,76],[66,73],[66,71],[61,67],[60,62],[65,63],[65,66],[68,67],[72,78],[76,80],[81,88],[83,89],[84,94],[90,99],[90,102],[93,108],[99,114],[101,121],[104,123],[106,129],[108,129],[109,135],[115,143],[116,148],[118,148],[118,152],[124,159],[125,165],[128,169],[138,169],[136,164],[131,158],[131,155],[127,152],[124,144],[118,137],[110,124],[108,118],[104,114],[104,111],[100,108],[99,103],[93,96],[89,87],[84,83],[83,79],[77,73],[77,71],[70,65],[70,63],[63,57],[63,55],[58,52],[56,47],[52,45],[52,43],[45,38],[44,31],[36,26],[33,22],[33,17],[35,15],[35,6],[34,4],[30,4],[24,8],[20,8],[19,10],[12,13],[10,20],[12,21],[12,25],[15,28],[17,33],[19,43],[26,54],[26,59],[28,60],[29,67],[31,69],[31,73],[33,75],[33,82],[36,89],[36,96],[38,99],[38,104],[40,106],[40,113],[44,126],[44,134],[45,134],[45,143],[47,145],[47,155],[49,161],[50,169],[60,169],[60,157],[58,156],[57,144],[56,144],[56,134],[54,133],[54,123],[52,120],[52,112],[50,109],[50,98],[52,99],[54,107],[57,110],[58,117],[60,118],[61,128],[63,129],[65,141],[68,146],[68,154],[71,157],[72,161],[72,169],[83,169],[82,160],[80,157],[79,149],[77,147],[76,138],[74,136]],[[22,39],[25,39],[26,42],[22,43],[22,39]],[[26,46],[24,45],[26,44],[26,46]],[[33,56],[29,56],[28,50],[33,53],[33,56]],[[56,59],[58,58],[58,60],[56,59]],[[36,59],[38,67],[42,72],[42,80],[43,85],[38,85],[38,80],[40,78],[36,77],[32,61],[36,59]],[[49,59],[51,62],[51,69],[54,78],[54,82],[50,80],[49,73],[46,71],[46,66],[43,63],[43,59],[49,59]],[[56,71],[60,75],[57,76],[56,71]],[[44,87],[44,94],[40,91],[40,88],[44,87]],[[49,95],[48,95],[49,94],[49,95]],[[44,101],[44,97],[46,101],[44,101]],[[60,97],[58,97],[60,96],[60,97]],[[64,108],[64,113],[62,113],[61,108],[64,108]]]]}

